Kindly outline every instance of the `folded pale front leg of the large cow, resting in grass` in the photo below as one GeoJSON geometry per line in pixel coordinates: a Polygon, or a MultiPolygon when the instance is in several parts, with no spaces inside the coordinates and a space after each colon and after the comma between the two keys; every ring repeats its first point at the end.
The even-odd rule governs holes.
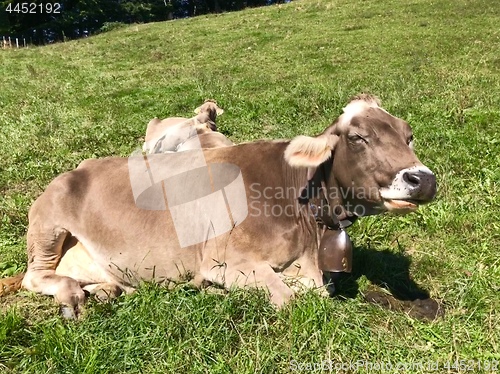
{"type": "Polygon", "coordinates": [[[202,264],[202,275],[206,280],[227,289],[233,286],[267,289],[271,302],[278,307],[283,306],[294,294],[266,263],[259,264],[247,260],[217,262],[206,259],[202,264]]]}

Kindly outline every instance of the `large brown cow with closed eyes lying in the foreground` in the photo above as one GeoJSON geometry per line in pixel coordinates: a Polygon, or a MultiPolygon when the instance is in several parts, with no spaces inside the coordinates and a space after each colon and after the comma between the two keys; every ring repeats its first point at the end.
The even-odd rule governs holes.
{"type": "Polygon", "coordinates": [[[406,213],[436,192],[410,126],[379,105],[354,98],[316,137],[82,162],[30,209],[22,286],[69,315],[84,290],[186,274],[266,288],[276,305],[293,295],[280,274],[322,287],[315,206],[336,219],[406,213]]]}

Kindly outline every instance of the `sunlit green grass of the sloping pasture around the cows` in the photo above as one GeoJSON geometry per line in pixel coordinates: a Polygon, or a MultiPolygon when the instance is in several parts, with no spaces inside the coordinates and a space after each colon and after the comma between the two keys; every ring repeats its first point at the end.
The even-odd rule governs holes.
{"type": "Polygon", "coordinates": [[[144,285],[71,322],[50,298],[2,298],[0,372],[286,373],[322,360],[439,361],[440,372],[476,360],[481,372],[477,360],[500,361],[499,24],[490,0],[303,0],[0,51],[2,276],[25,268],[27,212],[56,175],[128,156],[151,118],[188,116],[205,98],[239,142],[316,134],[369,91],[410,122],[439,185],[418,213],[350,229],[355,272],[333,299],[275,311],[261,292],[144,285]],[[446,315],[368,304],[374,288],[427,291],[446,315]]]}

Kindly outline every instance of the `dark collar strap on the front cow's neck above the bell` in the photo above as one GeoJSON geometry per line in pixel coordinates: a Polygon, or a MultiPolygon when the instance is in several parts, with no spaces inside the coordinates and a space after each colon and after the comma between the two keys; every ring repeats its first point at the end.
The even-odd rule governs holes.
{"type": "Polygon", "coordinates": [[[340,204],[335,205],[335,209],[330,205],[327,188],[330,174],[331,161],[326,161],[314,171],[306,186],[303,187],[298,201],[302,205],[309,204],[318,226],[323,230],[343,230],[352,225],[357,216],[349,215],[340,204]],[[321,196],[319,207],[310,202],[310,199],[315,196],[321,196]],[[339,214],[336,212],[337,208],[342,210],[339,214]]]}

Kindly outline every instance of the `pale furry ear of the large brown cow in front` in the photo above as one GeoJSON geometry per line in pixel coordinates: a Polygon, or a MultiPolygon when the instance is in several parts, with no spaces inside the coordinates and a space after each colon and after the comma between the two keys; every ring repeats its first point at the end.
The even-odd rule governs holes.
{"type": "Polygon", "coordinates": [[[297,136],[286,147],[285,160],[293,167],[315,168],[331,157],[338,139],[333,134],[297,136]]]}

